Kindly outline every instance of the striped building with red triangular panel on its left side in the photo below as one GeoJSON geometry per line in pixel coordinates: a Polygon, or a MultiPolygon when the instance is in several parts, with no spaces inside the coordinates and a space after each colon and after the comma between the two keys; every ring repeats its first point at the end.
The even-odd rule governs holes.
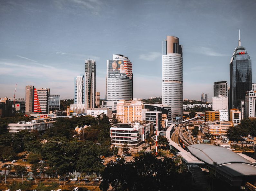
{"type": "Polygon", "coordinates": [[[34,113],[49,113],[49,88],[34,88],[34,113]]]}

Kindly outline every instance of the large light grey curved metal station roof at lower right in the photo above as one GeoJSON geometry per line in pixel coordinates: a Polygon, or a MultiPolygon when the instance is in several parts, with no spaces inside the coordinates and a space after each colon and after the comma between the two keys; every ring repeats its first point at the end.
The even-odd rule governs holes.
{"type": "Polygon", "coordinates": [[[188,146],[188,149],[195,157],[213,166],[219,166],[225,163],[247,163],[254,166],[253,163],[239,154],[220,146],[195,144],[188,146]]]}

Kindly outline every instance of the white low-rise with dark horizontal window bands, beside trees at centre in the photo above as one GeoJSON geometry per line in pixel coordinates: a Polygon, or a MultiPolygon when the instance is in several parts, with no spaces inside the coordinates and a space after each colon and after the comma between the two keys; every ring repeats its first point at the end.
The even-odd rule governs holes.
{"type": "Polygon", "coordinates": [[[122,147],[127,144],[128,148],[137,149],[149,137],[150,129],[153,129],[153,122],[118,123],[110,128],[111,145],[122,147]]]}

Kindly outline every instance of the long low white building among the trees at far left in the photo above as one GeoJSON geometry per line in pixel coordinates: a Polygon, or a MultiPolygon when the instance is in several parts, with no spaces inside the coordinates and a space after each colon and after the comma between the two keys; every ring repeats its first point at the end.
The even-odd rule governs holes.
{"type": "Polygon", "coordinates": [[[43,134],[46,129],[53,127],[53,122],[52,119],[18,121],[17,123],[9,123],[7,129],[10,133],[17,133],[21,130],[28,130],[29,132],[35,130],[43,134]]]}

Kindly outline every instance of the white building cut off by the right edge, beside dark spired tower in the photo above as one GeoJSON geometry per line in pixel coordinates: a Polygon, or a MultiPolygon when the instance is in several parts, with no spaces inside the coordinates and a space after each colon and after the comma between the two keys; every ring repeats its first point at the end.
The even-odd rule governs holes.
{"type": "Polygon", "coordinates": [[[246,92],[245,118],[256,118],[256,90],[246,92]]]}

